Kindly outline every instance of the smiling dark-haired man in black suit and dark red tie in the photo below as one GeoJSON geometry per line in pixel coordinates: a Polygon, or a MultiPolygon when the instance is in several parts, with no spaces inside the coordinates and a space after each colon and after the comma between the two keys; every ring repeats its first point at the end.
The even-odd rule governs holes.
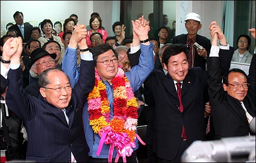
{"type": "MultiPolygon", "coordinates": [[[[232,52],[233,49],[220,50],[220,55],[225,53],[224,70],[229,69],[232,52]]],[[[152,151],[159,162],[180,162],[182,153],[191,143],[205,140],[208,74],[200,67],[188,68],[187,55],[185,45],[169,45],[162,56],[163,68],[168,73],[154,70],[144,82],[145,102],[155,110],[152,119],[147,119],[153,127],[146,139],[152,141],[152,151]],[[181,100],[176,87],[179,82],[182,83],[181,100]]]]}

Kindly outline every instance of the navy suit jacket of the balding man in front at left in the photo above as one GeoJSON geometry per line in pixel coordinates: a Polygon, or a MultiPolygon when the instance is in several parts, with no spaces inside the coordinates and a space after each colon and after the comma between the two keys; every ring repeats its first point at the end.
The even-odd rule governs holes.
{"type": "Polygon", "coordinates": [[[94,87],[94,62],[81,60],[78,83],[66,113],[49,104],[42,96],[27,95],[22,89],[20,67],[9,70],[6,95],[8,107],[24,122],[28,133],[28,160],[36,162],[68,162],[71,152],[77,162],[88,162],[89,148],[83,132],[82,106],[94,87]]]}

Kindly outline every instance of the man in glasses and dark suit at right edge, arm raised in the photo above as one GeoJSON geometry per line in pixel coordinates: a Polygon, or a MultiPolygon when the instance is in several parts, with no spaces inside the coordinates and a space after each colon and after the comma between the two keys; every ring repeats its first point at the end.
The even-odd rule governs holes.
{"type": "MultiPolygon", "coordinates": [[[[217,45],[218,38],[221,38],[220,44],[227,44],[216,21],[211,22],[209,29],[212,45],[217,45]]],[[[208,59],[208,93],[215,137],[221,139],[252,134],[249,123],[255,117],[255,54],[250,65],[253,67],[249,74],[251,85],[246,73],[238,68],[228,70],[222,77],[219,60],[218,56],[208,59]]]]}

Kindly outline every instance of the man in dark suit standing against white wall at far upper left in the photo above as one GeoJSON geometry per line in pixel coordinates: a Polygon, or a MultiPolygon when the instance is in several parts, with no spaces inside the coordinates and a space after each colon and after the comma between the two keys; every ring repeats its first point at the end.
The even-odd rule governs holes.
{"type": "Polygon", "coordinates": [[[23,43],[26,43],[31,37],[30,32],[33,28],[33,25],[31,25],[29,22],[24,23],[24,17],[22,12],[16,11],[13,14],[13,18],[16,24],[10,26],[9,30],[17,31],[17,37],[22,37],[23,43]]]}

